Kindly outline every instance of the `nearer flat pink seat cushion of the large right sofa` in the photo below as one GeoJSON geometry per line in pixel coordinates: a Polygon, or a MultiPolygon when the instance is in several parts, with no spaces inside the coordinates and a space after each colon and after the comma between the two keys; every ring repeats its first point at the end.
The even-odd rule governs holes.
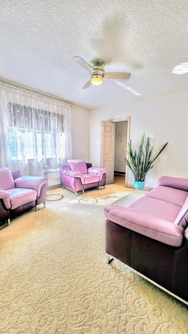
{"type": "Polygon", "coordinates": [[[171,221],[172,223],[174,223],[181,210],[180,206],[146,195],[129,205],[129,208],[171,221]]]}

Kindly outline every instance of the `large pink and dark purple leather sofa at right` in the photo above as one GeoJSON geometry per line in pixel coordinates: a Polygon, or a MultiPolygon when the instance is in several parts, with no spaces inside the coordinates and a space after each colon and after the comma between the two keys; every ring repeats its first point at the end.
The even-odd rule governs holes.
{"type": "Polygon", "coordinates": [[[188,179],[162,176],[129,207],[104,213],[107,263],[120,260],[188,304],[188,179]]]}

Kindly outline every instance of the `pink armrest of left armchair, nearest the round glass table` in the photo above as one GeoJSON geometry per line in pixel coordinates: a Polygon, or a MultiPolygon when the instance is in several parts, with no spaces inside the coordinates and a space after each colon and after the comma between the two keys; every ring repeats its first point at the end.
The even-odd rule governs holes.
{"type": "Polygon", "coordinates": [[[37,197],[40,195],[40,189],[46,183],[45,177],[38,176],[20,176],[14,180],[16,188],[34,189],[37,191],[37,197]]]}

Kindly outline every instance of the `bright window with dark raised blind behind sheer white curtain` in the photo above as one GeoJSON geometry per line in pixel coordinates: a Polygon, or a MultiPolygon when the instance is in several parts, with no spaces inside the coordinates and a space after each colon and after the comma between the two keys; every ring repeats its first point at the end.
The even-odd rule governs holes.
{"type": "Polygon", "coordinates": [[[8,102],[12,160],[64,158],[63,115],[8,102]]]}

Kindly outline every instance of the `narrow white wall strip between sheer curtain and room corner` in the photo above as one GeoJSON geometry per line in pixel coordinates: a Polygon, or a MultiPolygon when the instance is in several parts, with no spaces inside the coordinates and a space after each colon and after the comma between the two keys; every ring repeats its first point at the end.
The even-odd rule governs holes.
{"type": "Polygon", "coordinates": [[[71,104],[72,158],[89,162],[89,109],[71,104]]]}

